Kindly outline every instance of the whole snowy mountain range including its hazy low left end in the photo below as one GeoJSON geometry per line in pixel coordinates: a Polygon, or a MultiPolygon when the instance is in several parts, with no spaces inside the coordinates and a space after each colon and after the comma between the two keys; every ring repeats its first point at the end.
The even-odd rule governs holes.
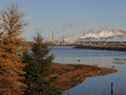
{"type": "Polygon", "coordinates": [[[81,35],[64,38],[64,42],[66,43],[75,43],[79,41],[126,41],[126,30],[99,30],[96,32],[84,32],[81,35]]]}

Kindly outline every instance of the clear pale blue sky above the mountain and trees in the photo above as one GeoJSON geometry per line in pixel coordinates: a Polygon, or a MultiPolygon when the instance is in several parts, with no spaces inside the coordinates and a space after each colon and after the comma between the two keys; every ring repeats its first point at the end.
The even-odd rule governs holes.
{"type": "Polygon", "coordinates": [[[102,27],[126,27],[126,0],[1,0],[0,8],[11,2],[25,13],[28,39],[37,32],[60,39],[102,27]]]}

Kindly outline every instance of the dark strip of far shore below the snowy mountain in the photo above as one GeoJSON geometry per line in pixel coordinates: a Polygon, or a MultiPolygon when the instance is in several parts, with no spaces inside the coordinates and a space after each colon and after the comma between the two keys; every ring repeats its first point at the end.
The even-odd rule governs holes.
{"type": "Polygon", "coordinates": [[[75,48],[126,51],[126,42],[83,42],[77,44],[75,48]]]}

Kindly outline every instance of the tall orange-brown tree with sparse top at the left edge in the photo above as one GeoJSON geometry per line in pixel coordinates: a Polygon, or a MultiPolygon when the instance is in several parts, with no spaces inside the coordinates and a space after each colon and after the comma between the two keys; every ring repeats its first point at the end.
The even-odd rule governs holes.
{"type": "Polygon", "coordinates": [[[13,5],[3,10],[0,15],[0,95],[23,95],[25,77],[23,76],[22,60],[18,50],[23,53],[22,14],[13,5]]]}

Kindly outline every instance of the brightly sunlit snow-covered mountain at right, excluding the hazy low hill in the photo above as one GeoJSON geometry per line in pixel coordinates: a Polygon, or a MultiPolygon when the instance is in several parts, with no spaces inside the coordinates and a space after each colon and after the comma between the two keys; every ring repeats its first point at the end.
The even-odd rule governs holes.
{"type": "Polygon", "coordinates": [[[99,30],[97,32],[87,32],[80,36],[79,40],[112,40],[126,41],[126,30],[99,30]]]}

